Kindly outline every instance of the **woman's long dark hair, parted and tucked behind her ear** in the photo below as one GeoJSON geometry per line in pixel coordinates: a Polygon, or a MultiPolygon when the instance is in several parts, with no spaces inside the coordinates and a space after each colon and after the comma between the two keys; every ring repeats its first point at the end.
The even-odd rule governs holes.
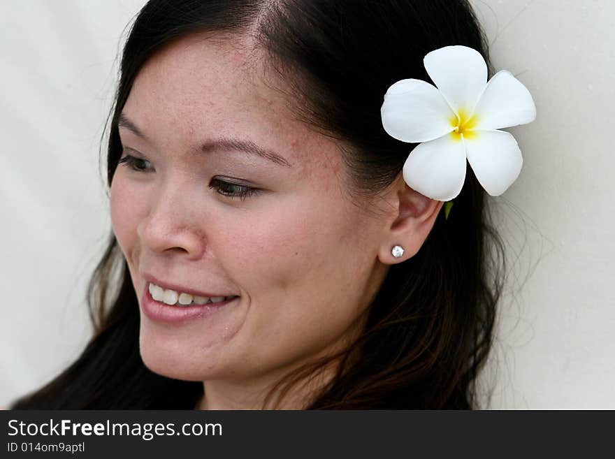
{"type": "MultiPolygon", "coordinates": [[[[466,0],[151,0],[122,54],[109,185],[122,152],[118,117],[138,71],[164,45],[201,31],[252,34],[271,68],[292,83],[293,95],[307,100],[298,115],[347,145],[342,157],[353,191],[366,196],[396,180],[414,147],[382,128],[386,89],[403,78],[429,81],[423,57],[446,45],[475,48],[489,62],[466,0]]],[[[475,407],[476,377],[491,348],[503,283],[502,257],[484,191],[468,168],[449,218],[440,214],[419,253],[391,266],[363,334],[340,354],[335,377],[307,408],[475,407]]],[[[95,335],[85,351],[14,407],[194,408],[201,382],[154,374],[140,358],[138,300],[113,233],[88,302],[95,335]]],[[[287,393],[323,365],[303,367],[277,388],[287,393]]]]}

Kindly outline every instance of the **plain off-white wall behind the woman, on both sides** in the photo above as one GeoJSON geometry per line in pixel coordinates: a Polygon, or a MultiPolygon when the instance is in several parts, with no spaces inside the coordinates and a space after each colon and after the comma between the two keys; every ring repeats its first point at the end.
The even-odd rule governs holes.
{"type": "MultiPolygon", "coordinates": [[[[110,230],[99,140],[143,0],[0,3],[0,406],[78,356],[110,230]]],[[[493,408],[615,408],[615,2],[475,0],[538,117],[495,200],[510,282],[493,408]]]]}

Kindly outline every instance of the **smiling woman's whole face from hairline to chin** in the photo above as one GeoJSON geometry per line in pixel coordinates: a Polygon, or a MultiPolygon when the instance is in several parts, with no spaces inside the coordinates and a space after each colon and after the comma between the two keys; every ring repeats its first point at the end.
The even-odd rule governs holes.
{"type": "Polygon", "coordinates": [[[348,196],[335,142],[294,119],[248,50],[173,43],[141,69],[120,122],[122,158],[136,159],[113,177],[113,230],[141,355],[169,377],[265,381],[332,351],[386,275],[386,221],[348,196]],[[164,305],[150,282],[233,298],[164,305]]]}

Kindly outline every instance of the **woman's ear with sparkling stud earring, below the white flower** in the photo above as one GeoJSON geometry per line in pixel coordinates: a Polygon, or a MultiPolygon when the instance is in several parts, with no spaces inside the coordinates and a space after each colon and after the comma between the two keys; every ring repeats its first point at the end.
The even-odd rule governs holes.
{"type": "Polygon", "coordinates": [[[386,201],[391,204],[391,221],[384,228],[382,244],[378,258],[384,264],[392,265],[411,258],[427,239],[437,214],[442,209],[443,201],[427,198],[408,187],[403,177],[393,186],[386,201]],[[393,247],[403,248],[403,255],[396,257],[391,252],[393,247]]]}

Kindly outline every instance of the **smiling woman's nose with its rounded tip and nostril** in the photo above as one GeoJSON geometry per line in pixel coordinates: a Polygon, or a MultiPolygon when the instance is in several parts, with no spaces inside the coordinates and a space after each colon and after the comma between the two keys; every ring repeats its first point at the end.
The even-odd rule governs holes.
{"type": "Polygon", "coordinates": [[[141,242],[152,252],[183,254],[190,259],[203,256],[205,234],[196,219],[194,201],[191,205],[185,196],[179,188],[166,188],[152,196],[149,212],[137,227],[141,242]]]}

